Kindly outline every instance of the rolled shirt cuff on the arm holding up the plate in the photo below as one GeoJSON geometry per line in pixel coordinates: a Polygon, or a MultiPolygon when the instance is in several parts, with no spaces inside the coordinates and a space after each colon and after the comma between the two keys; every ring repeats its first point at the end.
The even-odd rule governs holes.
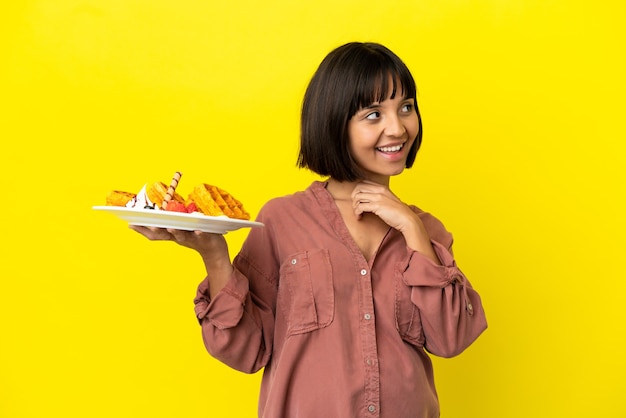
{"type": "Polygon", "coordinates": [[[198,321],[209,321],[218,329],[236,326],[243,316],[244,305],[249,291],[248,279],[235,271],[226,286],[211,299],[209,282],[205,279],[198,286],[195,312],[198,321]]]}

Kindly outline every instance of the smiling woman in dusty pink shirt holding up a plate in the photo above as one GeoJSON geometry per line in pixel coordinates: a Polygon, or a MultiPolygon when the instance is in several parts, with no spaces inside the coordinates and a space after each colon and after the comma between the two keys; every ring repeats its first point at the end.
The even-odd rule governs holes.
{"type": "Polygon", "coordinates": [[[439,416],[427,351],[461,353],[486,320],[451,234],[389,189],[421,139],[405,64],[349,43],[302,108],[298,163],[327,179],[268,202],[232,264],[221,235],[133,227],[200,253],[205,345],[235,369],[265,368],[259,416],[439,416]]]}

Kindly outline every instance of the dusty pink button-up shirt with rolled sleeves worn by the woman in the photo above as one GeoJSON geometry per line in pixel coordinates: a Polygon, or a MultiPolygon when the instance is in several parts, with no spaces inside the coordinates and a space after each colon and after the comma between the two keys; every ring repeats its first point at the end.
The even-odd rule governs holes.
{"type": "Polygon", "coordinates": [[[452,236],[414,208],[442,265],[392,228],[368,262],[325,186],[268,202],[227,285],[210,300],[200,284],[206,348],[234,369],[265,368],[259,417],[438,417],[427,351],[455,356],[487,327],[452,236]]]}

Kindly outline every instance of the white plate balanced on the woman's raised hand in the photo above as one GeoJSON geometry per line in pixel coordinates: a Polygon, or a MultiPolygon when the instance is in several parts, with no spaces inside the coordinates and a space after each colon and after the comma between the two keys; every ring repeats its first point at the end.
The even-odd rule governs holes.
{"type": "Polygon", "coordinates": [[[225,234],[241,228],[263,226],[260,222],[232,219],[226,216],[206,216],[198,212],[182,213],[154,209],[135,209],[123,206],[94,206],[94,210],[112,213],[130,225],[154,226],[157,228],[182,229],[225,234]]]}

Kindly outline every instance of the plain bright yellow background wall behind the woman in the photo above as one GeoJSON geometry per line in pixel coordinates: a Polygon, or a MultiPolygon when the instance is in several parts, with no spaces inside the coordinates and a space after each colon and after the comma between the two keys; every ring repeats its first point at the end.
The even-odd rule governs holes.
{"type": "Polygon", "coordinates": [[[260,375],[202,345],[199,258],[91,207],[176,170],[253,213],[303,189],[302,94],[351,40],[412,69],[424,144],[392,187],[452,230],[488,314],[435,359],[442,416],[626,416],[624,4],[4,4],[0,416],[255,416],[260,375]]]}

